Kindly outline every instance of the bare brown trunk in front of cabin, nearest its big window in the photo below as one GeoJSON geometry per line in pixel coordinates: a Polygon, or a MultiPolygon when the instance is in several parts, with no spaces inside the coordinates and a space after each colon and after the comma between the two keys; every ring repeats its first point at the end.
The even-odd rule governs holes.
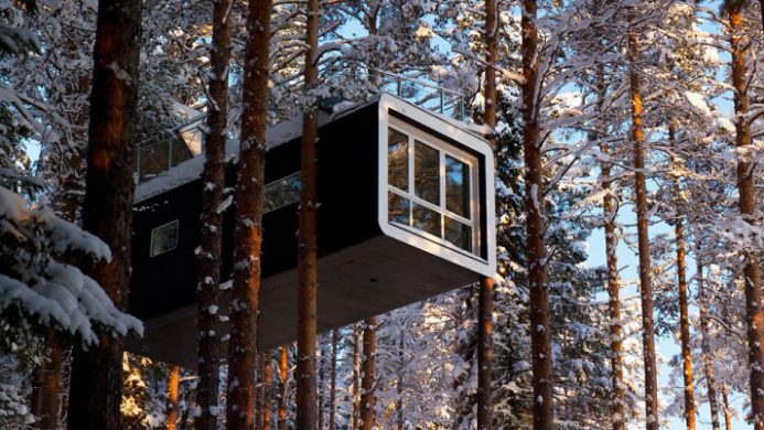
{"type": "MultiPolygon", "coordinates": [[[[308,0],[305,33],[304,90],[319,80],[319,0],[308,0]]],[[[298,233],[298,355],[297,355],[297,429],[315,429],[318,421],[315,387],[316,299],[319,271],[319,121],[315,106],[308,106],[302,117],[300,146],[300,230],[298,233]]]]}

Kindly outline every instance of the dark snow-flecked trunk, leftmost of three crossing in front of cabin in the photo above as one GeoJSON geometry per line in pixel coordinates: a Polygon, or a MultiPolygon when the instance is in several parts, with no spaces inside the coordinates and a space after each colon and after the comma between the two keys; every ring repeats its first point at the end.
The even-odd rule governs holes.
{"type": "Polygon", "coordinates": [[[232,0],[216,0],[213,10],[212,78],[209,79],[209,133],[204,142],[206,160],[202,187],[198,283],[196,284],[196,338],[198,384],[197,430],[217,428],[220,333],[218,324],[226,130],[228,126],[228,63],[230,62],[232,0]]]}

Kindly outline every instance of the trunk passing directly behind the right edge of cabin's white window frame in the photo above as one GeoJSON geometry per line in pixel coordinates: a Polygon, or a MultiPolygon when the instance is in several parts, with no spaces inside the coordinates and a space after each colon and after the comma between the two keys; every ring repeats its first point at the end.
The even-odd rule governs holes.
{"type": "MultiPolygon", "coordinates": [[[[485,2],[485,51],[486,62],[485,67],[485,111],[483,114],[483,122],[491,127],[492,137],[489,139],[491,147],[495,146],[493,130],[496,128],[496,69],[493,65],[496,63],[496,33],[498,32],[498,23],[496,20],[496,0],[487,0],[485,2]]],[[[494,216],[494,214],[488,214],[494,216]]],[[[481,277],[480,279],[480,298],[477,305],[477,429],[491,430],[493,401],[492,401],[492,362],[494,357],[494,345],[491,338],[494,331],[493,313],[494,313],[494,279],[489,277],[481,277]]]]}

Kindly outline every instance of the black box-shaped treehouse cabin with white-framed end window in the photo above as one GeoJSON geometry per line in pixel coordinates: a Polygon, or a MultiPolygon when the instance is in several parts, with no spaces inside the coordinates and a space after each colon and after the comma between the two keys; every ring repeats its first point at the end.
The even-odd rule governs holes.
{"type": "MultiPolygon", "coordinates": [[[[268,132],[258,345],[297,337],[301,121],[268,132]]],[[[474,126],[391,95],[320,115],[319,330],[413,303],[495,271],[493,155],[474,126]]],[[[234,186],[237,143],[227,149],[234,186]]],[[[137,190],[130,350],[194,366],[203,157],[137,190]]],[[[225,211],[223,281],[233,268],[235,203],[225,211]]],[[[224,292],[226,305],[228,292],[224,292]]],[[[225,309],[225,308],[224,308],[225,309]]]]}

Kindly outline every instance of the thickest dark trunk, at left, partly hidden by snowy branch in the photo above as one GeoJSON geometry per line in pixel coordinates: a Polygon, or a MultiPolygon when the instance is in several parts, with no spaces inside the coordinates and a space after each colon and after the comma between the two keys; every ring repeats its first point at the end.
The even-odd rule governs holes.
{"type": "MultiPolygon", "coordinates": [[[[118,309],[127,308],[134,195],[141,1],[100,0],[94,49],[83,226],[111,248],[111,261],[89,272],[118,309]]],[[[121,338],[104,335],[74,348],[69,429],[116,429],[122,394],[121,338]]]]}

